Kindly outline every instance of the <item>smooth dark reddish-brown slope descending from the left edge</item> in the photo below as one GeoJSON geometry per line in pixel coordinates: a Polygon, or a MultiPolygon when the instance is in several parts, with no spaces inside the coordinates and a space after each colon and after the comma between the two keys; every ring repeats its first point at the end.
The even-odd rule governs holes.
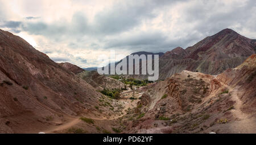
{"type": "Polygon", "coordinates": [[[0,30],[1,133],[42,131],[67,115],[97,114],[101,96],[22,38],[0,30]]]}

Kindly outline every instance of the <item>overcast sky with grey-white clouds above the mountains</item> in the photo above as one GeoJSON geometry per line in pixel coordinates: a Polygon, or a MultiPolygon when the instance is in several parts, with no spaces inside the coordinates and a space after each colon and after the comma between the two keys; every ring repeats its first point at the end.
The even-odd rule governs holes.
{"type": "Polygon", "coordinates": [[[187,48],[224,28],[256,39],[256,1],[0,0],[0,28],[58,63],[97,67],[110,50],[187,48]]]}

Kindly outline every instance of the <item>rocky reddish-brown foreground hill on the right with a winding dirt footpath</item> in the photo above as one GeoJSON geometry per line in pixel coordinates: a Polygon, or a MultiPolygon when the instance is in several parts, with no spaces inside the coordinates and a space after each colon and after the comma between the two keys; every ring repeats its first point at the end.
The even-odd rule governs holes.
{"type": "Polygon", "coordinates": [[[148,85],[137,108],[122,118],[125,132],[255,133],[255,76],[254,54],[216,76],[182,71],[148,85]]]}

